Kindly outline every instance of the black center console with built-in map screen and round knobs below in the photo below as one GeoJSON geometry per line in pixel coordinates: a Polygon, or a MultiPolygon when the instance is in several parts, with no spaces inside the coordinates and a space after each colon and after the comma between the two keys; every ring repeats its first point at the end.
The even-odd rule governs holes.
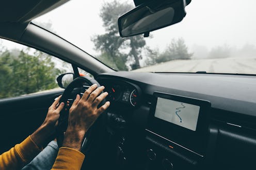
{"type": "Polygon", "coordinates": [[[146,128],[148,169],[197,168],[209,139],[209,101],[154,92],[146,128]]]}

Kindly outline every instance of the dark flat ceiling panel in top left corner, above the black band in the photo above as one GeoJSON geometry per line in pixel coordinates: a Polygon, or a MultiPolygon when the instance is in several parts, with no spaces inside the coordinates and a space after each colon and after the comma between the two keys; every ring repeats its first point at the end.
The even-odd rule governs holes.
{"type": "Polygon", "coordinates": [[[8,0],[0,6],[1,23],[27,23],[68,0],[8,0]]]}

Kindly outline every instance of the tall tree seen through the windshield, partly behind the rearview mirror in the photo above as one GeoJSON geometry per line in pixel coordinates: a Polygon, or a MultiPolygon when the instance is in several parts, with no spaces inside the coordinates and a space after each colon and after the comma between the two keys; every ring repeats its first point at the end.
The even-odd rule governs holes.
{"type": "Polygon", "coordinates": [[[132,69],[140,68],[141,49],[146,45],[142,35],[121,38],[118,30],[118,17],[131,10],[132,5],[118,1],[104,3],[100,17],[105,34],[92,37],[95,49],[101,51],[98,59],[118,70],[127,70],[126,62],[131,59],[132,69]],[[124,52],[129,50],[129,52],[124,52]]]}

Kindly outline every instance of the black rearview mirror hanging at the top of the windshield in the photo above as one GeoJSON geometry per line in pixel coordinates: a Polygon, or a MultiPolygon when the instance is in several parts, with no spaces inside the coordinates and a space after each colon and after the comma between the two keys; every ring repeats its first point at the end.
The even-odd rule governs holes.
{"type": "Polygon", "coordinates": [[[118,18],[121,37],[133,36],[179,23],[186,15],[185,6],[191,0],[154,0],[141,4],[118,18]]]}

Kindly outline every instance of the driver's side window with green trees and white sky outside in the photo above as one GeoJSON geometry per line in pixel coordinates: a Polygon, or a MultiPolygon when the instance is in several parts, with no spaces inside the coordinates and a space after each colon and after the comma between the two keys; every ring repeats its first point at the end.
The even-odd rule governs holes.
{"type": "Polygon", "coordinates": [[[70,63],[0,39],[0,99],[60,90],[56,78],[66,72],[70,63]]]}

